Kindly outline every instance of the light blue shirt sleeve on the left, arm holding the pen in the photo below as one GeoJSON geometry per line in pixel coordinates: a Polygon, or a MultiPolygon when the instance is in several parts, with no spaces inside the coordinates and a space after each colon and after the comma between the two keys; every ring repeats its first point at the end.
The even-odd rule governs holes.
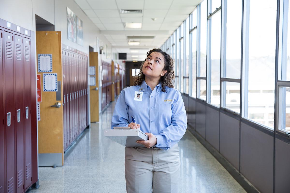
{"type": "Polygon", "coordinates": [[[122,90],[115,105],[111,129],[113,129],[113,127],[128,127],[128,124],[128,105],[126,105],[125,102],[125,92],[122,90]],[[126,111],[124,111],[124,109],[126,109],[126,111]]]}

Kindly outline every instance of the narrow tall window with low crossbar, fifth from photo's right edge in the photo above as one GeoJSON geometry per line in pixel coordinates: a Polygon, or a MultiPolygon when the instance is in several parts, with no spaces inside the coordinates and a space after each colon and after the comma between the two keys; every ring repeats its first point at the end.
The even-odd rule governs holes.
{"type": "Polygon", "coordinates": [[[196,97],[206,100],[206,29],[207,29],[207,1],[197,6],[197,91],[196,97]],[[205,85],[204,85],[205,84],[205,85]]]}

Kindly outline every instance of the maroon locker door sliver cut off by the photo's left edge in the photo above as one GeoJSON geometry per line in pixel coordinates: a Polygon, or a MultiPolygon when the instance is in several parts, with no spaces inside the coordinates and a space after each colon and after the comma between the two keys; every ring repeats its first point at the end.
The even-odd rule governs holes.
{"type": "MultiPolygon", "coordinates": [[[[2,44],[2,30],[0,30],[0,120],[4,120],[4,100],[3,100],[3,44],[2,44]]],[[[4,124],[0,124],[0,192],[4,192],[5,187],[5,173],[4,173],[4,124]]]]}

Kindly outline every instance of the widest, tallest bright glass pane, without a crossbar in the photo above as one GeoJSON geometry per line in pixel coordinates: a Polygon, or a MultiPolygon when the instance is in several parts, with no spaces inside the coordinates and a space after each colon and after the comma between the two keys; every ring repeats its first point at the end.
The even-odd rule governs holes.
{"type": "Polygon", "coordinates": [[[276,1],[250,1],[247,118],[273,128],[267,117],[274,113],[276,1]],[[271,27],[269,27],[271,26],[271,27]],[[267,40],[267,41],[265,41],[267,40]],[[253,91],[253,92],[252,92],[253,91]],[[260,116],[259,114],[263,114],[260,116]]]}

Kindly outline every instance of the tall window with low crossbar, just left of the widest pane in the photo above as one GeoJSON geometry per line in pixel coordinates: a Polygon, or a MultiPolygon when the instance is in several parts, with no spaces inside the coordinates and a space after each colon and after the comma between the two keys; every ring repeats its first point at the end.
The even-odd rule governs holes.
{"type": "Polygon", "coordinates": [[[241,30],[242,0],[222,1],[221,107],[236,113],[240,113],[241,30]]]}

